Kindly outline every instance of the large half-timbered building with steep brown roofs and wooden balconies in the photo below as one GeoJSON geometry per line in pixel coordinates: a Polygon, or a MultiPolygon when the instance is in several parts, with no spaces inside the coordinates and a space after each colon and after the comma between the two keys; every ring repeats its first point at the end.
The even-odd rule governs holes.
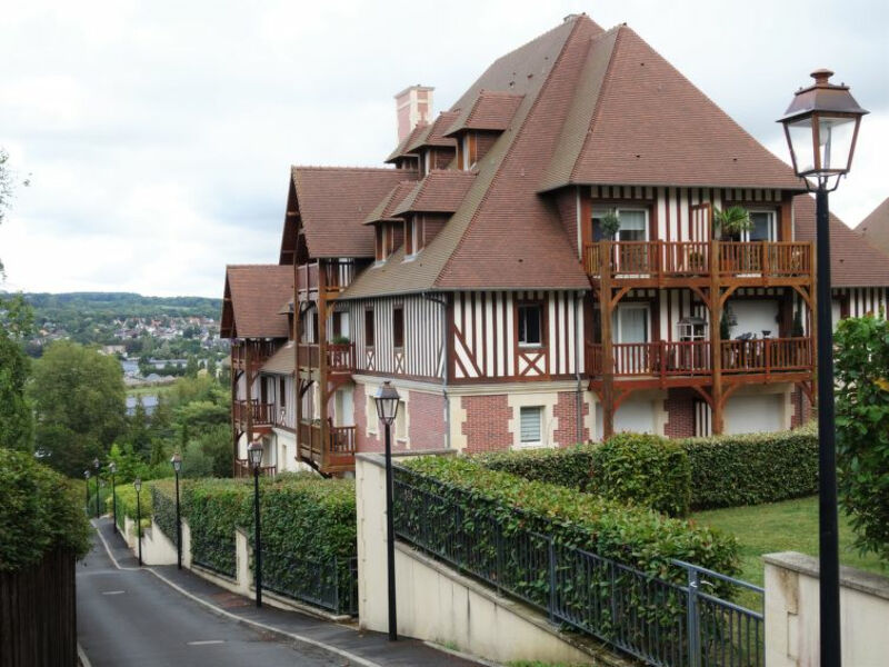
{"type": "MultiPolygon", "coordinates": [[[[384,379],[398,449],[806,419],[811,198],[636,32],[570,16],[431,104],[397,96],[393,168],[292,168],[279,265],[229,268],[240,459],[252,438],[279,468],[350,470],[382,447],[384,379]],[[720,229],[732,206],[751,229],[720,229]]],[[[889,285],[858,263],[840,310],[889,285]]]]}

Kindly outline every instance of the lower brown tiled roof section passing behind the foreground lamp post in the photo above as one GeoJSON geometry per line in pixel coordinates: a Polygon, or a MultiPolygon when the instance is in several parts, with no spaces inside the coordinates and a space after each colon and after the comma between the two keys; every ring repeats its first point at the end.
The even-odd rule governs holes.
{"type": "MultiPolygon", "coordinates": [[[[815,241],[815,199],[793,198],[795,238],[815,241]]],[[[833,287],[889,287],[889,258],[842,220],[830,216],[830,272],[833,287]]]]}

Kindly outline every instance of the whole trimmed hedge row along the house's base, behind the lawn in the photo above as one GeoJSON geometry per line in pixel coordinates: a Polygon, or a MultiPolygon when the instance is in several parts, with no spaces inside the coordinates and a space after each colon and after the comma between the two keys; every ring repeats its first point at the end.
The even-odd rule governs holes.
{"type": "Polygon", "coordinates": [[[481,466],[686,516],[818,492],[815,425],[773,434],[669,440],[620,434],[607,444],[505,451],[481,466]]]}

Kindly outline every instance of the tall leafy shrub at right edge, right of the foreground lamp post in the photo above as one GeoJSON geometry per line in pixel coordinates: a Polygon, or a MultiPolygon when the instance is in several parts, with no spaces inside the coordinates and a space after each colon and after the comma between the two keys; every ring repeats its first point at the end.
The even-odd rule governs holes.
{"type": "Polygon", "coordinates": [[[846,319],[836,342],[840,504],[856,546],[889,561],[889,322],[846,319]]]}

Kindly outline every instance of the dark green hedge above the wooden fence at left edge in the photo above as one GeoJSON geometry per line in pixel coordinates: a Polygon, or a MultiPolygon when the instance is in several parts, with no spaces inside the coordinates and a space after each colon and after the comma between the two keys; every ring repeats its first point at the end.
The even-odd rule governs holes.
{"type": "Polygon", "coordinates": [[[89,524],[82,491],[32,455],[0,449],[0,571],[33,565],[53,548],[83,556],[89,524]]]}

